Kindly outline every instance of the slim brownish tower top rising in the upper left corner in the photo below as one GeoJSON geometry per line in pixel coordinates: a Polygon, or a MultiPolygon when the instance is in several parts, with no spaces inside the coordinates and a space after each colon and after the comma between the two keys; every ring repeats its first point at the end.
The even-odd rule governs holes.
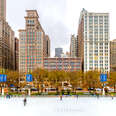
{"type": "Polygon", "coordinates": [[[0,0],[0,19],[6,20],[6,0],[0,0]]]}

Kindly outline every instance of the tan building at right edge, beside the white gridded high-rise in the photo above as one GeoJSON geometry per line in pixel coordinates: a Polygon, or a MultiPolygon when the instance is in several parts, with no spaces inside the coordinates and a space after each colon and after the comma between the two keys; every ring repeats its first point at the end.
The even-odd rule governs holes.
{"type": "Polygon", "coordinates": [[[116,71],[116,39],[110,42],[110,68],[116,71]]]}

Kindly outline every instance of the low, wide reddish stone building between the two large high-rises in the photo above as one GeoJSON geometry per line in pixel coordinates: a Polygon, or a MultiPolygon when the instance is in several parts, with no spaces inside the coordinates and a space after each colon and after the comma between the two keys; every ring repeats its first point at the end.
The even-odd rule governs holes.
{"type": "Polygon", "coordinates": [[[81,71],[81,58],[44,58],[44,69],[60,71],[81,71]]]}

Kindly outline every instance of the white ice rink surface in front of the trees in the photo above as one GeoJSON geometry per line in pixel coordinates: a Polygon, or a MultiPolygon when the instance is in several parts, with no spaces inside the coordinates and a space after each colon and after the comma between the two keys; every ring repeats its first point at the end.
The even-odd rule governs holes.
{"type": "Polygon", "coordinates": [[[0,116],[116,116],[116,98],[0,98],[0,116]]]}

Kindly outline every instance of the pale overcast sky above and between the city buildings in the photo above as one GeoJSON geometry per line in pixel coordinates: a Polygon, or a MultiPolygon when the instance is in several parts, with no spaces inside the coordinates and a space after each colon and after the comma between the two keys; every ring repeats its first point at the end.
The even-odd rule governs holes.
{"type": "Polygon", "coordinates": [[[51,55],[62,47],[69,51],[71,34],[77,34],[82,8],[89,12],[110,13],[110,39],[116,38],[115,0],[7,0],[7,21],[18,37],[18,30],[25,28],[25,10],[36,9],[39,21],[51,40],[51,55]]]}

